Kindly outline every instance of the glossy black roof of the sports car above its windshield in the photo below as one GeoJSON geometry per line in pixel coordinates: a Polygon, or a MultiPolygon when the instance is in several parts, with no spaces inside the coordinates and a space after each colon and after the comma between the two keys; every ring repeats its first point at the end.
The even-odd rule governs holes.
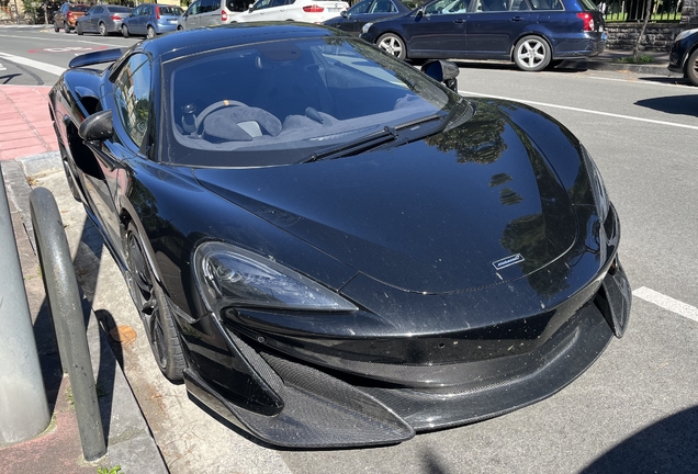
{"type": "Polygon", "coordinates": [[[237,46],[261,41],[340,36],[346,33],[323,25],[302,22],[250,22],[184,30],[144,41],[136,48],[161,56],[164,61],[205,49],[237,46]]]}

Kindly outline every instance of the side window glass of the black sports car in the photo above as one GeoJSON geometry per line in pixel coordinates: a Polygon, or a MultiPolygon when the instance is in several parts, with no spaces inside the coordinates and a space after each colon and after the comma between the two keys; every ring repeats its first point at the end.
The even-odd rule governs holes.
{"type": "Polygon", "coordinates": [[[114,101],[126,133],[140,147],[148,129],[151,105],[150,61],[146,55],[133,55],[121,69],[114,81],[114,101]]]}

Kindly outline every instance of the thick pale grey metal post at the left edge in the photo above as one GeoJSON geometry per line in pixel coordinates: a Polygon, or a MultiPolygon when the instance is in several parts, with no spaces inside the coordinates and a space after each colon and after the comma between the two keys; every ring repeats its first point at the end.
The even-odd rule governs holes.
{"type": "Polygon", "coordinates": [[[1,173],[0,182],[0,445],[9,445],[44,431],[50,414],[1,173]]]}

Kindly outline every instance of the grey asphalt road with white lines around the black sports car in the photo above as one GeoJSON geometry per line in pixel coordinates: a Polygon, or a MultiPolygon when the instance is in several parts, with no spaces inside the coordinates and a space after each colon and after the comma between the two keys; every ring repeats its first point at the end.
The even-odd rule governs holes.
{"type": "MultiPolygon", "coordinates": [[[[36,49],[133,42],[0,29],[0,64],[7,68],[11,54],[65,67],[75,52],[36,49]]],[[[533,406],[398,445],[318,451],[271,449],[209,417],[182,386],[159,376],[138,338],[123,354],[126,373],[172,472],[698,472],[698,88],[631,74],[460,65],[463,95],[528,101],[567,125],[596,159],[621,218],[621,261],[635,295],[626,336],[572,385],[533,406]]],[[[7,83],[56,79],[46,68],[10,67],[23,72],[7,83]]],[[[0,70],[0,83],[8,71],[0,70]]],[[[94,253],[105,268],[106,252],[94,253]]],[[[122,314],[110,302],[125,295],[120,279],[94,276],[86,293],[95,309],[137,327],[133,308],[122,314]]]]}

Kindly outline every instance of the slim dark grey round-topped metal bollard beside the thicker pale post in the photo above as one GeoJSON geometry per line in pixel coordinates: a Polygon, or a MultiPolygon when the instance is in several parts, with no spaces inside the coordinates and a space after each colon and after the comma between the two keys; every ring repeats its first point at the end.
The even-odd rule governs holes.
{"type": "Polygon", "coordinates": [[[60,357],[68,359],[82,454],[94,461],[106,454],[106,443],[70,249],[50,191],[34,189],[30,210],[60,357]]]}

